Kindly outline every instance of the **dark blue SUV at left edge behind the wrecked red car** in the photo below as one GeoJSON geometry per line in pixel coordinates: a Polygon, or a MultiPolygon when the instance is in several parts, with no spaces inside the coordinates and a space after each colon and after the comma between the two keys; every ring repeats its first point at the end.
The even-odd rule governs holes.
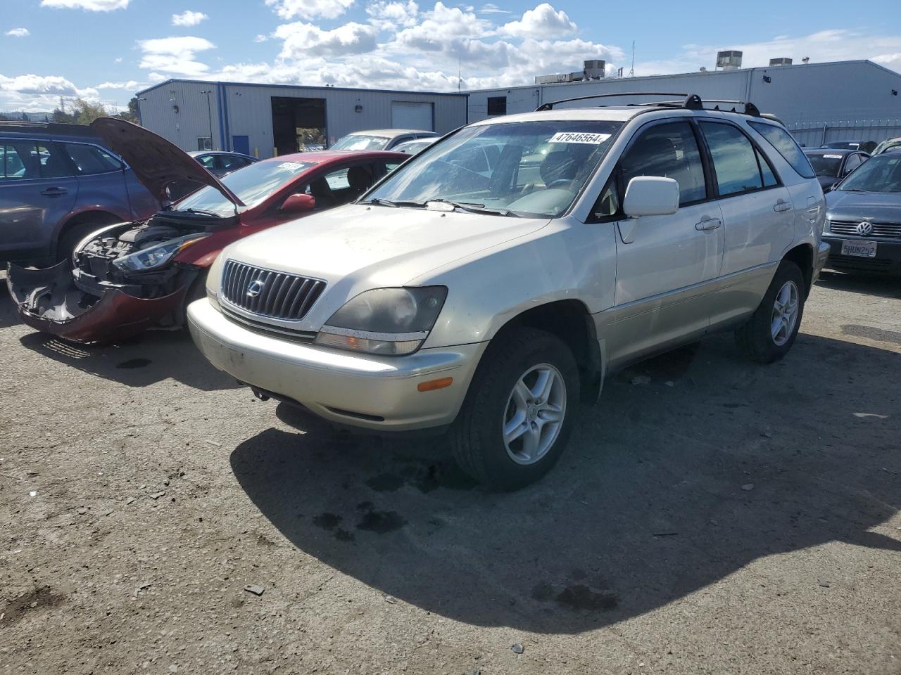
{"type": "Polygon", "coordinates": [[[90,127],[0,121],[0,261],[63,260],[96,229],[158,210],[90,127]]]}

